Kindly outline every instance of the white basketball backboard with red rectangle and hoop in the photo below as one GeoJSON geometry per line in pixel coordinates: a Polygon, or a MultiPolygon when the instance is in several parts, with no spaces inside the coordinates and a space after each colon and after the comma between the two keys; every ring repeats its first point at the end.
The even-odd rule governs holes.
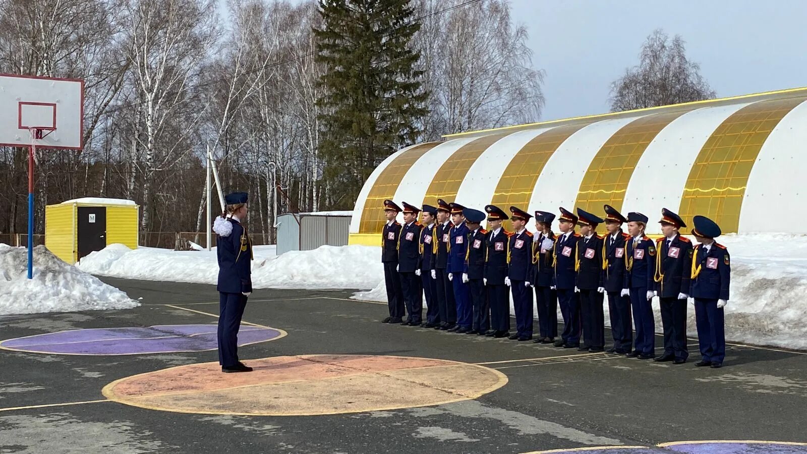
{"type": "Polygon", "coordinates": [[[82,149],[84,81],[0,74],[0,145],[82,149]]]}

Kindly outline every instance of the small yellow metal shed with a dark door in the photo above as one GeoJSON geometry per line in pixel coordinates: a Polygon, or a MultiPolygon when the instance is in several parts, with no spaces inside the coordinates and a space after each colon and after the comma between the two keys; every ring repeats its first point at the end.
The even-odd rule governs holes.
{"type": "Polygon", "coordinates": [[[136,249],[138,210],[132,200],[85,197],[45,207],[45,247],[67,263],[120,243],[136,249]]]}

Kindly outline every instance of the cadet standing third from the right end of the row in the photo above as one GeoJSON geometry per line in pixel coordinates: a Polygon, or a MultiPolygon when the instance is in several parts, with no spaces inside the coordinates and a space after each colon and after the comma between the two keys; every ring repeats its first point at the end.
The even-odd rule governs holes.
{"type": "Polygon", "coordinates": [[[655,244],[645,236],[647,216],[641,212],[628,213],[628,233],[625,243],[625,284],[621,295],[630,296],[636,343],[628,358],[651,359],[655,349],[655,320],[653,318],[653,282],[655,273],[655,244]]]}

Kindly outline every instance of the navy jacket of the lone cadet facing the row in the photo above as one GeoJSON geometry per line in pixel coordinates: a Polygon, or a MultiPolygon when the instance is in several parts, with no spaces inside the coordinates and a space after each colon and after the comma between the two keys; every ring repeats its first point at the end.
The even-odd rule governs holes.
{"type": "Polygon", "coordinates": [[[219,282],[215,289],[224,293],[252,292],[252,241],[238,221],[232,218],[227,221],[232,224],[232,233],[215,238],[215,254],[219,259],[219,282]]]}

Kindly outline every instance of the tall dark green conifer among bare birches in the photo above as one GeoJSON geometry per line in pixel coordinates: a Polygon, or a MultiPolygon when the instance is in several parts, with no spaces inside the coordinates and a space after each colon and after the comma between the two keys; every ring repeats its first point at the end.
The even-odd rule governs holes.
{"type": "Polygon", "coordinates": [[[332,208],[352,208],[373,169],[420,137],[427,94],[414,69],[413,13],[408,0],[320,0],[320,153],[332,208]]]}

